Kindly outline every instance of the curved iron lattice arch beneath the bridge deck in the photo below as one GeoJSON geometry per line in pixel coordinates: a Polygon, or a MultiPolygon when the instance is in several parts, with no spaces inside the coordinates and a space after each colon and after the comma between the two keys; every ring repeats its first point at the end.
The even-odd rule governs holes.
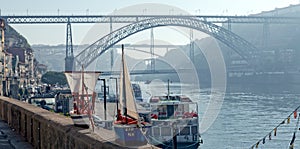
{"type": "Polygon", "coordinates": [[[135,33],[161,26],[181,26],[209,34],[233,49],[249,63],[252,62],[253,53],[258,51],[254,45],[233,32],[196,17],[155,17],[129,24],[97,40],[75,57],[75,68],[89,66],[113,45],[135,33]]]}

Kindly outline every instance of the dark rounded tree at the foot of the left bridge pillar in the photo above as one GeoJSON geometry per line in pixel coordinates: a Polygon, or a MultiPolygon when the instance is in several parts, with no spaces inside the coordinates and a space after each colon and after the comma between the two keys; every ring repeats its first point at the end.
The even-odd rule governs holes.
{"type": "Polygon", "coordinates": [[[66,85],[67,78],[63,72],[48,71],[42,76],[42,82],[47,84],[66,85]]]}

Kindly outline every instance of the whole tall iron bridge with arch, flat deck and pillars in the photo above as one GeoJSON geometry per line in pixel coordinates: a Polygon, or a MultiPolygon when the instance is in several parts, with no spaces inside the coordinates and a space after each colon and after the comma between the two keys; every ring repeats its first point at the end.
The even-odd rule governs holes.
{"type": "MultiPolygon", "coordinates": [[[[47,24],[47,23],[66,23],[67,24],[67,38],[66,38],[66,70],[72,70],[74,62],[73,54],[73,43],[72,43],[72,31],[71,23],[109,23],[111,32],[113,23],[131,23],[137,25],[137,22],[143,22],[144,20],[157,20],[162,18],[172,18],[172,20],[185,20],[185,23],[190,22],[191,19],[200,22],[201,26],[195,27],[192,24],[177,24],[175,22],[171,24],[156,24],[157,22],[152,22],[151,26],[144,28],[139,27],[139,31],[145,30],[148,28],[166,26],[166,25],[175,25],[175,26],[185,26],[200,30],[207,34],[212,35],[216,39],[222,41],[227,46],[231,47],[236,51],[241,57],[248,60],[251,63],[251,55],[257,51],[256,47],[246,40],[242,39],[238,35],[231,32],[231,24],[233,23],[242,23],[242,24],[263,24],[263,36],[268,36],[269,25],[270,24],[300,24],[300,17],[272,17],[272,16],[203,16],[203,15],[12,15],[12,16],[0,16],[1,19],[4,19],[9,24],[47,24]],[[189,20],[189,21],[187,21],[189,20]],[[227,24],[227,29],[215,25],[215,23],[227,24]],[[235,40],[237,40],[235,42],[235,40]],[[244,47],[246,47],[244,49],[244,47]]],[[[195,22],[193,22],[194,24],[195,22]]],[[[127,28],[128,29],[128,28],[127,28]]],[[[121,32],[115,32],[120,35],[114,34],[118,38],[118,41],[124,39],[120,38],[124,36],[121,32]]],[[[130,35],[133,32],[130,33],[130,35]]],[[[130,36],[128,35],[128,36],[130,36]]],[[[125,37],[126,38],[126,37],[125,37]]],[[[266,39],[268,37],[264,37],[266,39]]],[[[111,38],[113,39],[113,38],[111,38]]],[[[114,38],[116,39],[116,38],[114,38]]],[[[96,56],[101,55],[103,51],[106,51],[105,48],[111,48],[111,45],[100,45],[94,43],[88,49],[85,49],[85,52],[82,52],[80,55],[77,55],[77,61],[81,64],[87,66],[95,59],[96,56]],[[85,54],[84,54],[85,53],[85,54]],[[92,54],[92,58],[87,58],[86,54],[92,54]],[[84,60],[84,61],[81,61],[84,60]]],[[[115,42],[117,43],[117,42],[115,42]]],[[[114,43],[114,44],[115,44],[114,43]]],[[[193,48],[191,46],[191,52],[193,53],[193,48]]],[[[113,51],[112,51],[113,52],[113,51]]],[[[153,55],[153,53],[151,53],[153,55]]],[[[112,54],[113,55],[113,54],[112,54]]],[[[190,55],[191,57],[193,55],[190,55]]],[[[113,58],[113,57],[112,57],[113,58]]],[[[111,60],[113,61],[113,60],[111,60]]]]}

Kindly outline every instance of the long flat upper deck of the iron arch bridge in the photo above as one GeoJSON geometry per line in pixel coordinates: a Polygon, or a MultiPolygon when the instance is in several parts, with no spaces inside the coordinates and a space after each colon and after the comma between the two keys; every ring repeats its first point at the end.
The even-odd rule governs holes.
{"type": "Polygon", "coordinates": [[[0,16],[9,24],[45,23],[134,23],[150,18],[198,18],[210,23],[299,24],[300,17],[217,16],[217,15],[11,15],[0,16]]]}

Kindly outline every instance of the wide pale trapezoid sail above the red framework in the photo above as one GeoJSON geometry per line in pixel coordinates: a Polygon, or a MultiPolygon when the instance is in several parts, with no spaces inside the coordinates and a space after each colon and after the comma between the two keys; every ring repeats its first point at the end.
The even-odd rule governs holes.
{"type": "Polygon", "coordinates": [[[65,72],[65,76],[68,80],[68,84],[72,93],[78,93],[79,95],[92,95],[95,90],[97,80],[100,76],[100,72],[70,71],[65,72]],[[82,93],[82,88],[84,88],[84,93],[82,93]]]}

